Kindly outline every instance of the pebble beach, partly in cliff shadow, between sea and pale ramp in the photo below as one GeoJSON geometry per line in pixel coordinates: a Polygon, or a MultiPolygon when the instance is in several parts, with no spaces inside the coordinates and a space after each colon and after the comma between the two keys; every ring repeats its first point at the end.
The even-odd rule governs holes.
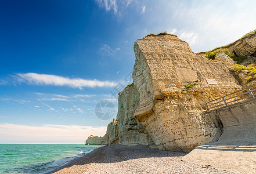
{"type": "Polygon", "coordinates": [[[182,161],[186,154],[116,144],[97,148],[55,173],[232,173],[182,161]]]}

